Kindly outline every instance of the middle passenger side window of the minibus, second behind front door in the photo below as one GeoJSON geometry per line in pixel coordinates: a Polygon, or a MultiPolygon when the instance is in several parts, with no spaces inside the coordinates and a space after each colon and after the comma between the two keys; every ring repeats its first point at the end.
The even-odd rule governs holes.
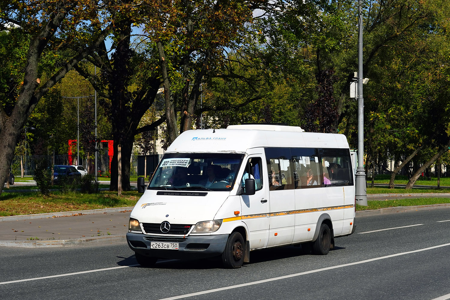
{"type": "Polygon", "coordinates": [[[317,188],[324,183],[319,153],[315,148],[291,148],[295,188],[317,188]]]}

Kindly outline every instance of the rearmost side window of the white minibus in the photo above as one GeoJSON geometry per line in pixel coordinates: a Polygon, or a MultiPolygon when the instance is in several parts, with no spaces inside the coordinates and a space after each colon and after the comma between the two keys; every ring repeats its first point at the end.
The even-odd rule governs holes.
{"type": "Polygon", "coordinates": [[[327,186],[353,185],[353,169],[350,150],[320,149],[324,176],[329,179],[327,186]]]}

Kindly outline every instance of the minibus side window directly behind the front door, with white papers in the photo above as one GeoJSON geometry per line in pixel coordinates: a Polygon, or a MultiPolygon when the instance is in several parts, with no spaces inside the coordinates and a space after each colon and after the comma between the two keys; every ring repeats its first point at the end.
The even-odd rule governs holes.
{"type": "Polygon", "coordinates": [[[265,148],[269,190],[294,188],[294,173],[289,148],[265,148]]]}

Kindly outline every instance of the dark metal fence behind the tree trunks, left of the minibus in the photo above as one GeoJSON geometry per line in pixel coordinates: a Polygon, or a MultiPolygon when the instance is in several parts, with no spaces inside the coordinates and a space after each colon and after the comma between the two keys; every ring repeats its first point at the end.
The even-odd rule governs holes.
{"type": "MultiPolygon", "coordinates": [[[[147,159],[147,172],[153,172],[161,160],[162,154],[155,155],[133,155],[130,160],[130,176],[144,175],[145,158],[147,159]]],[[[67,165],[69,157],[67,155],[28,155],[15,156],[11,165],[11,172],[17,177],[22,175],[32,176],[39,161],[45,161],[47,165],[67,165]]],[[[112,156],[107,154],[97,156],[97,166],[99,175],[109,175],[111,173],[112,156]]],[[[94,174],[95,159],[82,159],[81,166],[85,167],[89,174],[94,174]]]]}

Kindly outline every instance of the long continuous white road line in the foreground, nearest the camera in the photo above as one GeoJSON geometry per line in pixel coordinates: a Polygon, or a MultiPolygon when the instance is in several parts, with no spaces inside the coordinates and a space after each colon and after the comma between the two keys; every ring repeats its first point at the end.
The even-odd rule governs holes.
{"type": "MultiPolygon", "coordinates": [[[[302,272],[302,273],[295,273],[295,274],[285,275],[285,276],[280,276],[280,277],[275,277],[275,278],[268,278],[268,279],[264,279],[264,280],[254,281],[254,282],[247,282],[247,283],[237,284],[237,285],[229,286],[229,287],[220,287],[220,288],[216,288],[216,289],[212,289],[212,290],[199,291],[199,292],[196,292],[196,293],[190,293],[190,294],[185,294],[185,295],[180,295],[180,296],[174,296],[174,297],[164,298],[164,299],[159,299],[159,300],[175,300],[175,299],[187,298],[187,297],[192,297],[192,296],[210,294],[210,293],[214,293],[214,292],[217,292],[217,291],[225,291],[225,290],[230,290],[230,289],[234,289],[234,288],[238,288],[238,287],[247,287],[247,286],[252,286],[252,285],[255,285],[255,284],[271,282],[271,281],[285,279],[285,278],[291,278],[291,277],[296,277],[296,276],[301,276],[301,275],[306,275],[306,274],[311,274],[311,273],[317,273],[317,272],[331,270],[331,269],[338,269],[338,268],[348,267],[348,266],[352,266],[352,265],[355,265],[355,264],[364,264],[364,263],[369,263],[369,262],[375,261],[375,260],[383,260],[383,259],[386,259],[386,258],[391,258],[391,257],[395,257],[395,256],[406,255],[406,254],[411,254],[411,253],[416,253],[416,252],[421,252],[421,251],[427,251],[427,250],[436,249],[436,248],[445,247],[445,246],[450,246],[450,243],[442,244],[442,245],[438,245],[438,246],[432,246],[432,247],[423,248],[423,249],[414,250],[414,251],[408,251],[408,252],[402,252],[402,253],[397,253],[397,254],[392,254],[392,255],[376,257],[376,258],[372,258],[372,259],[369,259],[369,260],[361,260],[361,261],[357,261],[357,262],[350,263],[350,264],[340,264],[340,265],[333,266],[333,267],[328,267],[328,268],[316,269],[316,270],[306,271],[306,272],[302,272]]],[[[443,298],[443,299],[438,298],[438,299],[439,300],[443,300],[443,299],[446,299],[446,298],[443,298]]]]}

